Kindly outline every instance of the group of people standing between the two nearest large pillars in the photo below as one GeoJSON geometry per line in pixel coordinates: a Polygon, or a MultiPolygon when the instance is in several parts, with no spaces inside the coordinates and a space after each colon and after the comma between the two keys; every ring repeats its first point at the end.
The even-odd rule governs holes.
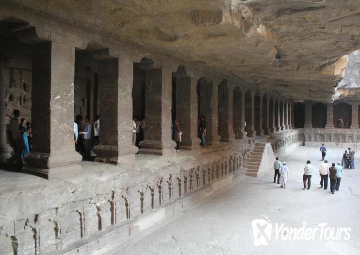
{"type": "Polygon", "coordinates": [[[88,116],[85,117],[85,123],[83,123],[83,119],[81,115],[76,116],[76,120],[74,122],[74,142],[75,142],[75,150],[82,154],[83,160],[90,160],[91,156],[96,156],[93,149],[100,142],[100,115],[97,116],[97,120],[94,122],[93,130],[93,144],[91,145],[91,134],[92,127],[90,124],[90,118],[88,116]]]}

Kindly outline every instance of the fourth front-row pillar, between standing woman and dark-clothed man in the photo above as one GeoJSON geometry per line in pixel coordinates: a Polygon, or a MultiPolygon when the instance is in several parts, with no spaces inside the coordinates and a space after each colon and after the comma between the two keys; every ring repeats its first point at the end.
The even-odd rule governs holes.
{"type": "Polygon", "coordinates": [[[181,149],[200,148],[197,137],[197,77],[177,76],[176,117],[181,127],[181,149]]]}

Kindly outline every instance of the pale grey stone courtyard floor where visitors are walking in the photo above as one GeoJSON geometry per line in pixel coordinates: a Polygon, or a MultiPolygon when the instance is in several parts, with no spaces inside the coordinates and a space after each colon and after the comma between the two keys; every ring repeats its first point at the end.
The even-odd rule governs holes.
{"type": "MultiPolygon", "coordinates": [[[[326,158],[330,163],[337,162],[342,153],[342,149],[329,149],[326,158]]],[[[290,171],[286,189],[272,183],[273,172],[259,178],[246,177],[156,232],[107,254],[115,255],[120,251],[124,255],[360,254],[359,155],[355,170],[344,170],[340,190],[334,195],[320,188],[318,148],[298,147],[282,160],[287,161],[290,171]],[[303,190],[303,166],[308,159],[315,173],[311,189],[303,190]],[[268,245],[255,247],[251,222],[266,220],[266,217],[272,224],[271,236],[265,238],[268,245]],[[335,229],[350,227],[350,239],[344,240],[344,234],[341,240],[321,239],[320,230],[311,240],[276,239],[277,223],[300,228],[304,221],[306,228],[318,227],[320,223],[335,229]]]]}

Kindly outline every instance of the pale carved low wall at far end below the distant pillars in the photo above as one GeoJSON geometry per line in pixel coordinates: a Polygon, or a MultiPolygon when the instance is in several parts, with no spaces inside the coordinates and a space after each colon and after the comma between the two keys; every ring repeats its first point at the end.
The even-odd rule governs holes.
{"type": "Polygon", "coordinates": [[[360,129],[350,128],[302,128],[299,129],[299,140],[306,142],[306,146],[320,147],[326,143],[332,148],[354,148],[360,142],[360,129]]]}

